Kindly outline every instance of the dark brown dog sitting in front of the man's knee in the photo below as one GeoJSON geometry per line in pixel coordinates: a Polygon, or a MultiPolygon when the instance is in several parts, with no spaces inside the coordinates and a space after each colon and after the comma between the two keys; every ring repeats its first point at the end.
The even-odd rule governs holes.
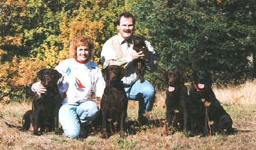
{"type": "Polygon", "coordinates": [[[112,130],[112,123],[107,124],[107,121],[117,121],[120,126],[120,137],[125,137],[124,129],[128,99],[123,88],[123,82],[121,81],[124,74],[125,69],[121,66],[111,65],[103,69],[103,76],[106,82],[100,104],[103,117],[103,138],[109,137],[108,129],[112,130]]]}

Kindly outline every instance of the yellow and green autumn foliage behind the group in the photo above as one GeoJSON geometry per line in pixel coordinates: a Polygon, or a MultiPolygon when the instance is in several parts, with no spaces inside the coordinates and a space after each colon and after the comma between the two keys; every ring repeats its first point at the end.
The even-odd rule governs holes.
{"type": "Polygon", "coordinates": [[[159,72],[147,74],[156,88],[163,88],[160,74],[174,67],[188,81],[193,69],[207,67],[217,84],[243,83],[255,74],[247,59],[256,53],[255,10],[254,0],[1,0],[0,102],[30,96],[36,72],[68,58],[75,36],[92,37],[100,64],[101,47],[125,11],[159,54],[159,72]]]}

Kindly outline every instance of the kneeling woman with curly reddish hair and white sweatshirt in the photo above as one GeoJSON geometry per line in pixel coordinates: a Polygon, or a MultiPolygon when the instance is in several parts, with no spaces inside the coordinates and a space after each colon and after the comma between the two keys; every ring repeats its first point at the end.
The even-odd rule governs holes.
{"type": "MultiPolygon", "coordinates": [[[[98,114],[97,104],[89,99],[91,90],[100,97],[105,81],[93,57],[93,43],[88,36],[76,37],[70,44],[71,59],[60,62],[55,69],[63,75],[58,80],[58,90],[64,95],[58,118],[65,136],[76,138],[81,132],[81,123],[92,121],[98,114]]],[[[46,91],[39,82],[31,87],[41,94],[46,91]]]]}

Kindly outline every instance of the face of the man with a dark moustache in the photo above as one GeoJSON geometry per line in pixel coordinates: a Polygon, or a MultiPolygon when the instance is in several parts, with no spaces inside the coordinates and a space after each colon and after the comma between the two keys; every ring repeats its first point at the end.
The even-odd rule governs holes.
{"type": "Polygon", "coordinates": [[[129,39],[134,32],[134,24],[132,18],[120,18],[120,25],[118,25],[118,30],[123,39],[129,39]]]}

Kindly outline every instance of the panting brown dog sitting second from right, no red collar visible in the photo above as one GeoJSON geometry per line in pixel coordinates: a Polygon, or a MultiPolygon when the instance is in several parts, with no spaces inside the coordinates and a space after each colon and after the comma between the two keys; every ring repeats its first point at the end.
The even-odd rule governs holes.
{"type": "MultiPolygon", "coordinates": [[[[188,133],[188,92],[180,70],[175,69],[163,74],[167,84],[166,91],[166,134],[171,129],[182,129],[188,133]]],[[[172,130],[172,131],[174,131],[172,130]]]]}

